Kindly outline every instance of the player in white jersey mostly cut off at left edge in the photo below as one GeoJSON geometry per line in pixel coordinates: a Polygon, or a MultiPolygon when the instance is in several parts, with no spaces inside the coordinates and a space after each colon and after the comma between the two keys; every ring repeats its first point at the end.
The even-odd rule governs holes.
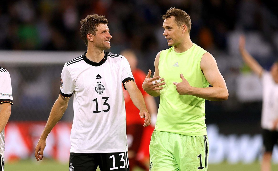
{"type": "Polygon", "coordinates": [[[13,93],[9,72],[0,67],[0,171],[4,171],[4,128],[11,115],[13,93]]]}

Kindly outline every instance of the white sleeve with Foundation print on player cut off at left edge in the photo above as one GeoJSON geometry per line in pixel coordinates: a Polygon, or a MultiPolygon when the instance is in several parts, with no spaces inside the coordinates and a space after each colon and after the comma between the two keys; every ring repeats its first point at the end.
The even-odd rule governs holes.
{"type": "Polygon", "coordinates": [[[2,103],[13,105],[13,93],[9,72],[0,67],[0,104],[2,103]]]}

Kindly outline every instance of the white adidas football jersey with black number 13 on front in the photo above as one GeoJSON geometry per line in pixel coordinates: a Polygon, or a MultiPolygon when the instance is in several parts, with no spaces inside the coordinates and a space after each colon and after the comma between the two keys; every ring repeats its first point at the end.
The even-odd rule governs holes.
{"type": "Polygon", "coordinates": [[[86,53],[65,63],[60,94],[73,95],[71,149],[75,153],[127,151],[126,113],[121,84],[134,81],[126,58],[110,52],[99,63],[86,53]]]}

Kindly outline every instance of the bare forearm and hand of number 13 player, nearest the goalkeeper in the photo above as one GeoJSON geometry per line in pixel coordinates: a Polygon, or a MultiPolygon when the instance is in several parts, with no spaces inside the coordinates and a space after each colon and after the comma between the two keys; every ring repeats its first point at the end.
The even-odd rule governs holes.
{"type": "Polygon", "coordinates": [[[140,110],[140,117],[145,118],[145,123],[143,126],[148,126],[151,123],[151,116],[148,113],[147,107],[145,105],[145,101],[143,98],[142,93],[136,86],[135,82],[129,81],[125,83],[125,88],[129,93],[130,99],[132,100],[133,104],[140,110]]]}

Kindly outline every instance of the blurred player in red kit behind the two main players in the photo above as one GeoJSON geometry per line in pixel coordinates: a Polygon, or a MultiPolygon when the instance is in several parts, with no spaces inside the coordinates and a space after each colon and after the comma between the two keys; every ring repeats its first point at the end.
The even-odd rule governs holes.
{"type": "MultiPolygon", "coordinates": [[[[153,122],[155,123],[154,118],[156,118],[157,115],[157,105],[155,99],[154,97],[148,95],[142,88],[142,84],[145,80],[146,74],[142,70],[137,68],[137,63],[138,63],[137,57],[132,50],[124,50],[120,54],[125,56],[125,58],[128,60],[128,63],[130,64],[131,72],[136,81],[136,85],[144,97],[148,112],[151,113],[152,115],[152,123],[153,122]]],[[[147,144],[150,143],[149,134],[152,134],[154,127],[153,126],[142,127],[142,124],[144,124],[144,120],[137,117],[140,111],[132,103],[128,92],[123,91],[123,93],[125,97],[126,136],[128,142],[128,159],[129,159],[130,171],[133,170],[135,165],[138,165],[142,169],[149,170],[146,167],[146,163],[148,165],[150,156],[147,154],[144,155],[144,151],[141,151],[141,153],[143,154],[140,155],[142,156],[140,158],[142,159],[139,160],[138,152],[140,149],[140,145],[142,144],[141,143],[142,141],[148,142],[147,144]]],[[[144,148],[147,151],[149,151],[148,146],[147,147],[145,146],[144,148]]]]}

